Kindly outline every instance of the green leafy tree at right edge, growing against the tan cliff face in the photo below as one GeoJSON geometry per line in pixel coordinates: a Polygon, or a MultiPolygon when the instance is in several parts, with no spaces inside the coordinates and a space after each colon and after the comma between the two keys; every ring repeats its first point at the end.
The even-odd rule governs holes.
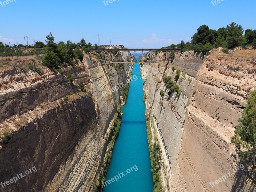
{"type": "Polygon", "coordinates": [[[236,146],[242,163],[253,173],[256,169],[256,90],[249,94],[242,119],[238,122],[231,143],[236,146]]]}

